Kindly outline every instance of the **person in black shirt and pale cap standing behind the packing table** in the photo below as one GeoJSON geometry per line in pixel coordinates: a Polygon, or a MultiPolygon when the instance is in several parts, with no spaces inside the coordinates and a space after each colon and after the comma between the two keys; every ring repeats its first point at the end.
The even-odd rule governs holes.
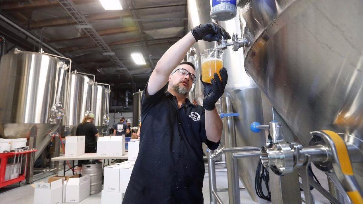
{"type": "MultiPolygon", "coordinates": [[[[86,136],[85,141],[85,153],[95,153],[97,147],[98,130],[93,124],[94,114],[89,113],[84,118],[81,124],[77,126],[76,135],[86,136]]],[[[78,160],[77,174],[81,174],[82,164],[86,163],[86,160],[78,160]]]]}

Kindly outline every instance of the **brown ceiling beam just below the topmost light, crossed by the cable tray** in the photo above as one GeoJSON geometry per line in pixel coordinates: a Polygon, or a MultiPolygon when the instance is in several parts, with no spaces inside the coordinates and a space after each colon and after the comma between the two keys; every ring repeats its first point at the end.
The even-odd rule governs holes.
{"type": "MultiPolygon", "coordinates": [[[[96,20],[113,20],[120,19],[125,17],[130,17],[130,13],[127,11],[110,11],[110,12],[102,12],[102,13],[92,13],[89,15],[85,15],[87,21],[96,21],[96,20]]],[[[26,22],[23,22],[26,24],[26,22]]],[[[29,25],[29,29],[41,29],[43,27],[50,26],[63,26],[63,25],[77,25],[77,22],[72,17],[59,17],[53,19],[44,19],[38,21],[32,21],[29,25]]]]}

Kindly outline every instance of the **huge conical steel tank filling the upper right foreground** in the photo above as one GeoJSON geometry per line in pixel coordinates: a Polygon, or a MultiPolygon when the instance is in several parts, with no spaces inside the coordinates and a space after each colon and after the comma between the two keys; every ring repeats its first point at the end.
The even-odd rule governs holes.
{"type": "MultiPolygon", "coordinates": [[[[245,69],[303,144],[310,131],[363,139],[363,1],[238,1],[245,69]],[[247,5],[244,6],[244,3],[247,5]]],[[[227,29],[228,30],[228,29],[227,29]]],[[[348,137],[344,138],[347,139],[348,137]]],[[[362,164],[354,173],[363,187],[362,164]]]]}

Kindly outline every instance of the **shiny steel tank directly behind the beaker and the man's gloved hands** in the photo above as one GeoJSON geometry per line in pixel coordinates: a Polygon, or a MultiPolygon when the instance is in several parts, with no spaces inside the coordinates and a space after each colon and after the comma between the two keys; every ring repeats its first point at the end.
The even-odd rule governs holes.
{"type": "MultiPolygon", "coordinates": [[[[188,19],[189,29],[203,23],[211,21],[210,5],[209,2],[204,0],[188,0],[188,19]]],[[[218,24],[222,25],[228,32],[241,34],[240,20],[235,17],[229,21],[220,21],[218,24]]],[[[239,35],[241,36],[241,35],[239,35]]],[[[198,63],[196,69],[196,76],[201,74],[201,61],[200,52],[213,48],[212,42],[198,41],[189,50],[188,61],[196,61],[198,63]]],[[[232,48],[224,50],[223,65],[228,71],[228,84],[225,89],[224,96],[229,97],[232,103],[234,113],[240,113],[239,117],[233,117],[236,128],[236,144],[240,146],[257,146],[261,147],[265,144],[265,135],[260,132],[259,134],[251,135],[249,125],[254,121],[263,121],[262,114],[262,101],[261,91],[252,79],[246,74],[244,70],[243,50],[233,52],[232,48]]],[[[203,102],[203,85],[199,80],[196,81],[194,87],[193,97],[196,103],[202,104],[203,102]]],[[[224,146],[223,141],[221,144],[224,146]]],[[[254,190],[254,178],[256,173],[258,159],[245,158],[238,160],[239,176],[244,186],[248,190],[250,196],[254,201],[263,203],[256,195],[254,190]]]]}

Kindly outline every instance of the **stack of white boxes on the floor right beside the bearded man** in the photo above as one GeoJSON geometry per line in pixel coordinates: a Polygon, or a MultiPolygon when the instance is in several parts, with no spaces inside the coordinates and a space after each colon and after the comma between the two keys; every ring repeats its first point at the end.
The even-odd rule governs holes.
{"type": "Polygon", "coordinates": [[[101,204],[121,204],[135,161],[105,167],[101,204]]]}

